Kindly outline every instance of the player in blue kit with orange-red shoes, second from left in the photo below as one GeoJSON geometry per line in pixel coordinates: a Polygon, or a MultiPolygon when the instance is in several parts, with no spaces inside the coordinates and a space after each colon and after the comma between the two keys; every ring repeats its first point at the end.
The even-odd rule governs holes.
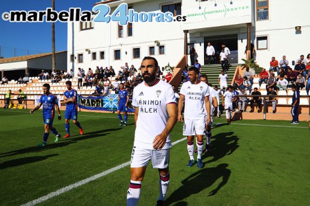
{"type": "Polygon", "coordinates": [[[65,102],[65,131],[67,132],[67,135],[63,138],[70,137],[70,119],[72,119],[72,122],[79,127],[80,134],[83,135],[83,129],[81,127],[81,124],[77,121],[77,102],[76,102],[76,90],[72,89],[72,82],[67,81],[65,82],[65,86],[67,87],[67,91],[63,93],[63,102],[65,102]]]}

